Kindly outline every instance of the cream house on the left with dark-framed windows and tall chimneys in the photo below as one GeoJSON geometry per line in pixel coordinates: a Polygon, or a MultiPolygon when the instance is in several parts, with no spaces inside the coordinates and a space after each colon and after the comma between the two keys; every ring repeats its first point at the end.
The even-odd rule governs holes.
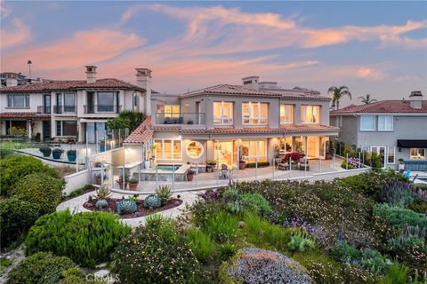
{"type": "Polygon", "coordinates": [[[137,68],[137,84],[96,78],[96,67],[86,66],[86,80],[39,80],[18,84],[8,74],[0,88],[0,134],[12,127],[27,130],[28,138],[43,141],[87,141],[105,137],[106,122],[122,110],[150,112],[151,71],[137,68]]]}

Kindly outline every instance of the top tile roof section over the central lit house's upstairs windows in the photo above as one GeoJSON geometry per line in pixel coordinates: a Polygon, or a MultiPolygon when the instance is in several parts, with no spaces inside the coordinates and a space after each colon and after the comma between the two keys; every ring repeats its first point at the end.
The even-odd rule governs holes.
{"type": "Polygon", "coordinates": [[[230,85],[225,83],[212,87],[207,87],[205,89],[200,89],[197,91],[186,92],[184,94],[181,94],[181,97],[190,97],[198,94],[245,95],[277,98],[281,97],[280,94],[271,91],[254,90],[242,87],[240,85],[230,85]]]}

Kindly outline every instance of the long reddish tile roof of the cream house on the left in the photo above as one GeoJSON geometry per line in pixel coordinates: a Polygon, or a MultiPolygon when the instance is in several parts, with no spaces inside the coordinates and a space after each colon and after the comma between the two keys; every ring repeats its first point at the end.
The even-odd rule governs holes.
{"type": "Polygon", "coordinates": [[[141,87],[127,83],[115,78],[99,79],[94,83],[87,83],[85,80],[44,80],[41,83],[31,83],[14,87],[4,87],[1,93],[6,92],[41,92],[41,91],[62,91],[62,90],[83,90],[83,89],[122,89],[145,91],[141,87]]]}

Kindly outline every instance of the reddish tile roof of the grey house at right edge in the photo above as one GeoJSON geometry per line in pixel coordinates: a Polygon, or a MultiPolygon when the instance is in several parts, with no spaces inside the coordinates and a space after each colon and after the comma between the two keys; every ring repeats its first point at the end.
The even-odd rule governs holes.
{"type": "Polygon", "coordinates": [[[330,114],[419,114],[427,113],[427,100],[423,100],[422,108],[413,108],[409,100],[382,100],[368,105],[350,105],[332,111],[330,114]]]}

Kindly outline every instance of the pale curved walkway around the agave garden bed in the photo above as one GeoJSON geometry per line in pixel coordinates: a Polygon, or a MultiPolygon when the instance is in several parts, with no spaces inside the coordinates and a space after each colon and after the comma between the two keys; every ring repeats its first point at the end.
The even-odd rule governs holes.
{"type": "MultiPolygon", "coordinates": [[[[183,193],[173,193],[173,197],[176,197],[178,194],[181,195],[181,200],[183,201],[182,204],[178,207],[175,207],[173,209],[167,209],[164,211],[160,211],[157,214],[163,215],[165,217],[177,217],[181,215],[182,209],[185,208],[185,204],[191,205],[194,201],[197,200],[198,196],[197,194],[200,192],[183,192],[183,193]]],[[[90,210],[85,209],[83,207],[83,204],[85,201],[89,199],[89,196],[95,195],[95,192],[85,193],[80,196],[77,196],[73,199],[70,199],[68,201],[64,201],[58,205],[56,208],[57,211],[69,209],[73,213],[78,212],[90,212],[90,210]]],[[[121,199],[123,196],[127,196],[127,194],[120,194],[120,193],[113,193],[111,195],[111,198],[117,198],[121,199]]],[[[141,196],[139,197],[141,199],[141,196]]],[[[127,218],[127,219],[120,219],[120,221],[126,225],[130,225],[132,227],[136,227],[139,225],[145,224],[145,216],[144,217],[137,217],[137,218],[127,218]]]]}

